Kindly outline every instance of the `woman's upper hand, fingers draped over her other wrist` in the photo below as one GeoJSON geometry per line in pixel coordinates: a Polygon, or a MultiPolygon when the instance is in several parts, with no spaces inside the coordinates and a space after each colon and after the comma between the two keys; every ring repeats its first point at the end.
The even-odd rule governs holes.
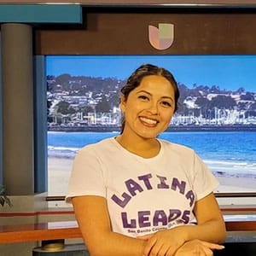
{"type": "Polygon", "coordinates": [[[138,236],[138,239],[147,241],[143,256],[173,256],[185,242],[182,229],[161,230],[151,235],[138,236]]]}

